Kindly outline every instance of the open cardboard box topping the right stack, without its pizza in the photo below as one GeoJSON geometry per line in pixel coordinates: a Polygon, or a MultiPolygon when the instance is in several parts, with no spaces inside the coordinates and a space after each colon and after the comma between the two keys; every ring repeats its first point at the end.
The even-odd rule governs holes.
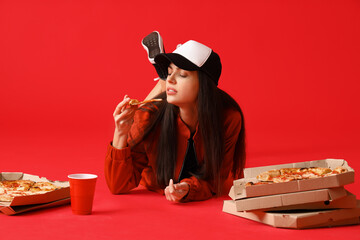
{"type": "Polygon", "coordinates": [[[233,199],[242,199],[246,197],[258,197],[274,194],[283,194],[291,192],[302,192],[316,189],[341,187],[354,182],[354,169],[343,159],[325,159],[317,161],[271,165],[266,167],[245,168],[244,178],[234,181],[233,199]],[[270,183],[253,186],[245,186],[247,182],[258,182],[256,176],[272,169],[281,168],[309,168],[309,167],[326,167],[334,169],[338,166],[346,168],[345,173],[303,180],[294,180],[284,183],[270,183]]]}

